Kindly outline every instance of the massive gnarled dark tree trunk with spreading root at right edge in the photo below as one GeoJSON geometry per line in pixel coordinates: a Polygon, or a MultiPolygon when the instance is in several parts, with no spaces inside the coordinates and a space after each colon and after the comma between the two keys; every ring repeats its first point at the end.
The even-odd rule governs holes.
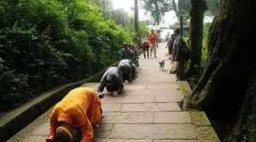
{"type": "Polygon", "coordinates": [[[190,106],[226,126],[224,142],[256,141],[256,1],[224,0],[210,29],[210,61],[190,106]]]}

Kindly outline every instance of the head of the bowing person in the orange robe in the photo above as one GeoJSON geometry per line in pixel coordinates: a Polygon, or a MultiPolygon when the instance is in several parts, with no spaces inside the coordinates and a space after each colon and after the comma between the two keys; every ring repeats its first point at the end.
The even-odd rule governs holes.
{"type": "Polygon", "coordinates": [[[61,124],[56,129],[55,142],[72,142],[73,141],[73,128],[66,123],[61,124]]]}

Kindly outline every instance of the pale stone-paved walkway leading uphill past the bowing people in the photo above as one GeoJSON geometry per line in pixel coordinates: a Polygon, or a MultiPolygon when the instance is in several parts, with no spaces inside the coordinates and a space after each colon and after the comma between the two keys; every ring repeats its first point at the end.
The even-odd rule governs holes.
{"type": "MultiPolygon", "coordinates": [[[[137,80],[125,84],[118,97],[102,99],[102,127],[96,129],[96,142],[196,142],[195,126],[189,112],[181,111],[177,102],[183,99],[176,77],[160,71],[164,57],[160,44],[156,59],[140,58],[137,80]]],[[[96,83],[84,86],[95,88],[96,83]]],[[[49,111],[9,139],[10,142],[42,142],[48,133],[49,111]]]]}

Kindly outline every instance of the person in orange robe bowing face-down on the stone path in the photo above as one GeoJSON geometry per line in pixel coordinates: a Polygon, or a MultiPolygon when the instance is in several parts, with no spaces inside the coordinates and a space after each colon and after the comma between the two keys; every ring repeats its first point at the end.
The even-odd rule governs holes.
{"type": "Polygon", "coordinates": [[[102,120],[101,97],[92,88],[71,90],[51,111],[45,142],[91,142],[102,120]]]}

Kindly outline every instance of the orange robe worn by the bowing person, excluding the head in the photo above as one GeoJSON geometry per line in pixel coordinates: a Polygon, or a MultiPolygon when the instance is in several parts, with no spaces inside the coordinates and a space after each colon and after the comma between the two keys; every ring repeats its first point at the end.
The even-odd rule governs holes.
{"type": "Polygon", "coordinates": [[[51,112],[49,120],[49,137],[55,136],[56,128],[65,122],[73,128],[80,128],[81,142],[91,142],[93,125],[102,118],[102,103],[94,89],[75,88],[64,97],[51,112]]]}

